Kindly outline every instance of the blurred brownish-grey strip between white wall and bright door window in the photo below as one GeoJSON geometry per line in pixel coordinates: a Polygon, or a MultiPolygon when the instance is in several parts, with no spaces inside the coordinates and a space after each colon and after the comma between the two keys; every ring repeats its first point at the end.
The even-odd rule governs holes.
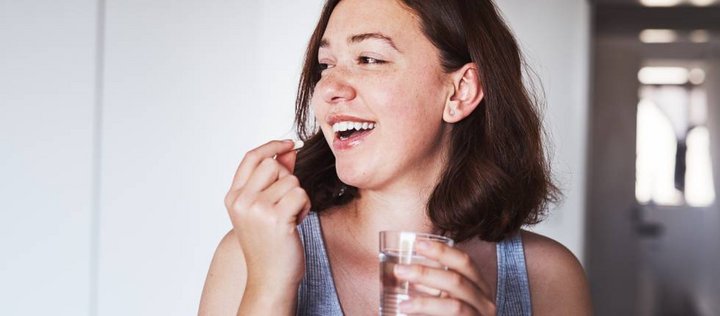
{"type": "Polygon", "coordinates": [[[600,38],[593,47],[587,270],[596,315],[638,314],[635,124],[642,60],[635,42],[600,38]]]}

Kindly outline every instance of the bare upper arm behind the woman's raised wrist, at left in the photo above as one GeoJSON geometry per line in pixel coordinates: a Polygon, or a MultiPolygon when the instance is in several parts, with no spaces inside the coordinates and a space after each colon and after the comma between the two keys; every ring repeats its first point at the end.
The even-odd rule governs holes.
{"type": "Polygon", "coordinates": [[[205,279],[198,315],[235,315],[245,291],[245,257],[230,230],[215,250],[205,279]]]}

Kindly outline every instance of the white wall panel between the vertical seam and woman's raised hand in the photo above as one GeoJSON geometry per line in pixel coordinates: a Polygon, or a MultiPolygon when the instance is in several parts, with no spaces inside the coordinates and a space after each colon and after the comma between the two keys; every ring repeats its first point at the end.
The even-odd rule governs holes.
{"type": "Polygon", "coordinates": [[[100,315],[197,310],[243,154],[292,128],[316,6],[109,1],[100,315]],[[293,17],[293,15],[297,15],[293,17]]]}

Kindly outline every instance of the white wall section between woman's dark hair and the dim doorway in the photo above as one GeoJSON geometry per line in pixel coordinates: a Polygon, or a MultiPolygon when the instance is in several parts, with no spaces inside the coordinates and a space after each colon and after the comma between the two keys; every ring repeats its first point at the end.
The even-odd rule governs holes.
{"type": "Polygon", "coordinates": [[[547,108],[553,173],[563,203],[532,228],[583,260],[585,158],[589,84],[590,6],[582,0],[498,0],[527,62],[539,76],[547,108]]]}

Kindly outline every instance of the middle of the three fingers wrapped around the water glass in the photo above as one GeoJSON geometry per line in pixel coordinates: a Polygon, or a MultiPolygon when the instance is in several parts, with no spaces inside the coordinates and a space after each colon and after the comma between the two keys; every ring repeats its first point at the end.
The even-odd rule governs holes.
{"type": "Polygon", "coordinates": [[[481,309],[492,303],[488,295],[483,293],[475,283],[467,277],[452,271],[431,268],[424,265],[396,265],[395,275],[413,285],[422,285],[440,290],[452,298],[460,299],[475,308],[481,309]]]}

